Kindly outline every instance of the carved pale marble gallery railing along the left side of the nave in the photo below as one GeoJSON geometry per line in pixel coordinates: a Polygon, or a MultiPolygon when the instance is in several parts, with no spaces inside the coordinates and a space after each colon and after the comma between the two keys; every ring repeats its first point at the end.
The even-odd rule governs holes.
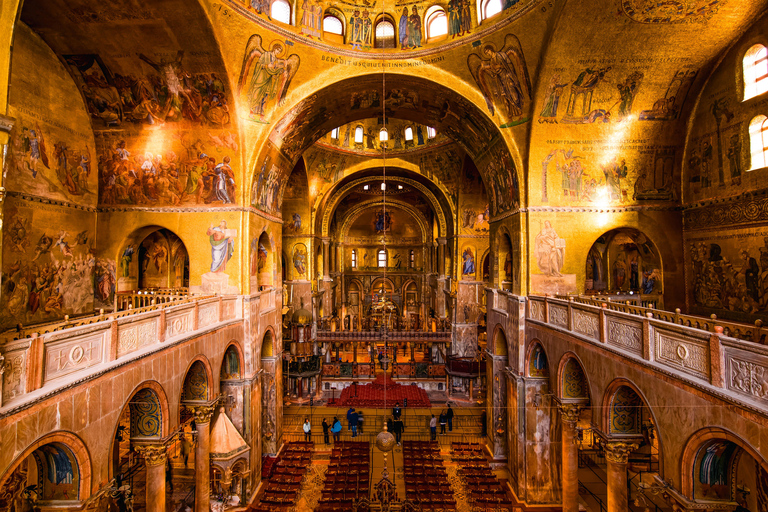
{"type": "MultiPolygon", "coordinates": [[[[267,292],[273,294],[274,291],[267,292]]],[[[190,296],[129,311],[65,319],[6,333],[0,340],[0,406],[21,407],[72,382],[146,356],[172,341],[242,319],[239,296],[190,296]]]]}

